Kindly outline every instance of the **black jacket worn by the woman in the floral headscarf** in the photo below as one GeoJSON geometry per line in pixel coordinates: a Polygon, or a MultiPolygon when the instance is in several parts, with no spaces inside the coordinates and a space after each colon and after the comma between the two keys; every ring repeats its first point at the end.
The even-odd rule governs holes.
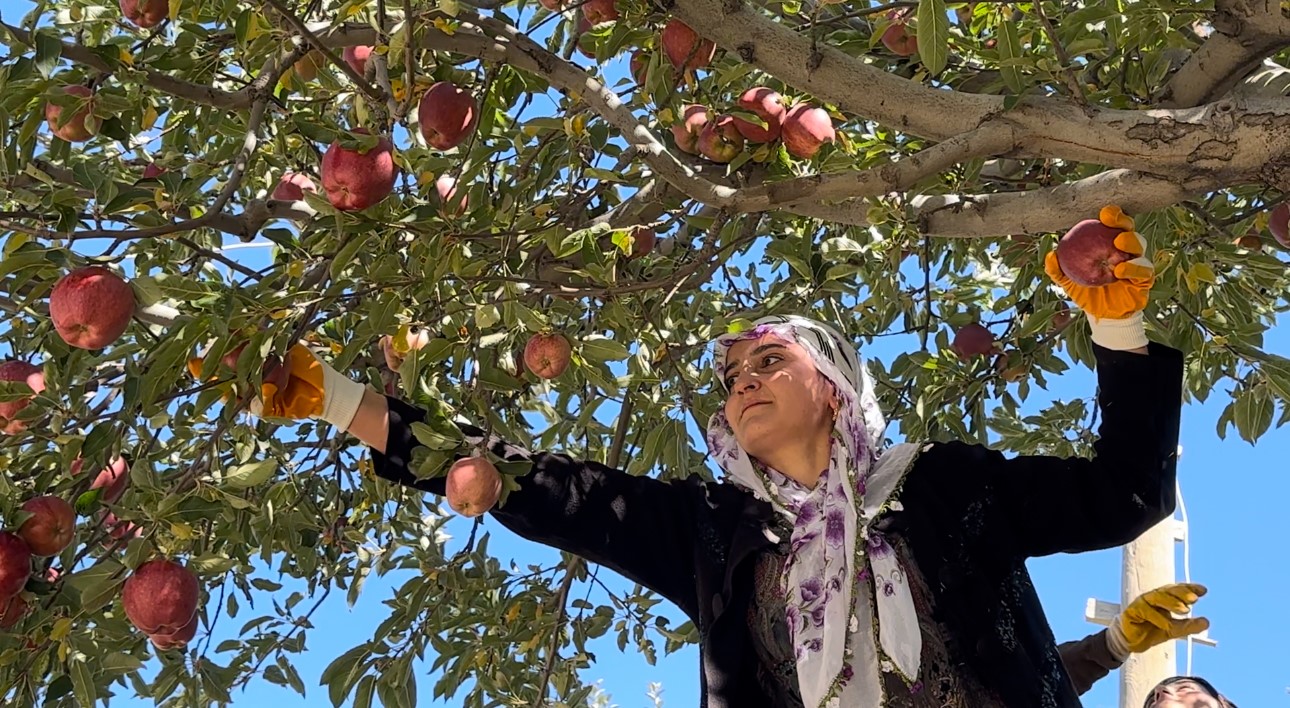
{"type": "MultiPolygon", "coordinates": [[[[1080,705],[1026,558],[1120,546],[1174,509],[1182,353],[1160,344],[1148,355],[1095,351],[1102,424],[1094,459],[1007,459],[978,445],[935,444],[906,478],[904,509],[884,520],[915,555],[962,671],[1009,708],[1080,705]]],[[[410,424],[423,417],[390,398],[390,437],[386,454],[374,454],[375,471],[442,494],[442,477],[418,480],[408,468],[418,445],[410,424]]],[[[703,707],[774,708],[749,680],[757,658],[744,622],[748,561],[771,544],[769,504],[697,476],[663,482],[495,438],[490,447],[533,462],[494,518],[675,602],[699,629],[703,707]]]]}

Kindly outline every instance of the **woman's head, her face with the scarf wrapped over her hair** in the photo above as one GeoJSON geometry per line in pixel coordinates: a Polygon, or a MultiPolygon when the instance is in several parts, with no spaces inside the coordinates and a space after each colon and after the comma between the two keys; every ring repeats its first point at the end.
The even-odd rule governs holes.
{"type": "Polygon", "coordinates": [[[835,428],[867,447],[881,436],[882,417],[854,346],[828,325],[762,317],[751,330],[719,338],[716,355],[734,440],[804,486],[828,467],[835,428]],[[838,417],[850,424],[838,426],[838,417]]]}

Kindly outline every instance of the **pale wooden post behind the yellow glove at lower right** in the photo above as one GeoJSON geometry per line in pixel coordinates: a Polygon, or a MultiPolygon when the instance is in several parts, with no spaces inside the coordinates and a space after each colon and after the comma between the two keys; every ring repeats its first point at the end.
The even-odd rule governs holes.
{"type": "MultiPolygon", "coordinates": [[[[1124,548],[1120,606],[1140,593],[1175,582],[1174,543],[1178,522],[1170,516],[1124,548]]],[[[1129,656],[1120,669],[1120,708],[1142,708],[1152,686],[1178,673],[1174,646],[1165,642],[1129,656]]]]}

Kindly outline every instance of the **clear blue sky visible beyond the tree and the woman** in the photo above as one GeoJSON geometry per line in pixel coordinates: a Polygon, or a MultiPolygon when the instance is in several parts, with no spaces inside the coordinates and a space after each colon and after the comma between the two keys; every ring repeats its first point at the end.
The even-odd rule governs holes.
{"type": "MultiPolygon", "coordinates": [[[[21,0],[0,0],[0,13],[6,22],[17,22],[30,5],[21,0]]],[[[575,61],[583,61],[578,57],[575,61]]],[[[617,67],[614,77],[622,76],[617,67]]],[[[230,237],[230,244],[233,239],[230,237]]],[[[90,245],[89,248],[94,248],[90,245]]],[[[235,251],[240,261],[255,267],[263,263],[261,249],[235,251]]],[[[888,339],[864,352],[871,359],[888,360],[900,352],[902,342],[888,339]]],[[[1290,333],[1286,328],[1269,333],[1267,349],[1290,353],[1290,333]]],[[[1072,369],[1053,383],[1053,398],[1069,400],[1093,395],[1091,373],[1072,369]]],[[[1032,406],[1045,402],[1044,392],[1032,396],[1032,406]]],[[[1210,595],[1200,606],[1200,614],[1213,622],[1211,636],[1219,641],[1216,649],[1195,649],[1195,671],[1210,678],[1237,700],[1242,708],[1290,707],[1290,665],[1282,637],[1290,634],[1290,613],[1284,607],[1285,588],[1290,587],[1290,564],[1285,539],[1290,538],[1290,476],[1276,472],[1276,460],[1290,459],[1290,436],[1285,429],[1269,432],[1258,445],[1238,441],[1235,432],[1227,441],[1215,433],[1215,422],[1226,396],[1216,393],[1205,405],[1191,405],[1183,417],[1184,455],[1179,467],[1183,495],[1191,518],[1191,574],[1196,582],[1210,587],[1210,595]]],[[[613,410],[606,408],[609,418],[613,410]]],[[[1280,464],[1284,464],[1280,463],[1280,464]]],[[[1284,469],[1284,468],[1282,468],[1284,469]]],[[[468,526],[464,521],[449,524],[457,540],[464,539],[468,526]]],[[[494,535],[491,549],[503,558],[519,558],[524,564],[555,562],[559,556],[547,548],[517,539],[497,522],[488,521],[485,529],[494,535]]],[[[1044,601],[1049,620],[1058,640],[1078,638],[1098,628],[1084,622],[1084,606],[1089,597],[1118,600],[1120,552],[1106,551],[1080,556],[1059,556],[1035,560],[1029,564],[1044,601]]],[[[1178,560],[1179,578],[1183,573],[1182,553],[1178,560]]],[[[275,705],[277,708],[316,707],[326,704],[326,693],[317,686],[322,668],[337,655],[370,636],[386,616],[381,602],[406,575],[391,574],[368,582],[359,604],[350,609],[335,593],[324,604],[313,619],[317,629],[308,634],[308,651],[295,659],[308,687],[308,696],[301,698],[290,689],[259,681],[236,694],[237,704],[275,705]]],[[[626,589],[608,570],[600,578],[615,591],[626,589]]],[[[294,589],[288,583],[284,595],[294,589]]],[[[592,595],[596,601],[596,593],[592,595]]],[[[245,611],[243,614],[245,615],[245,611]]],[[[676,623],[682,620],[672,611],[676,623]]],[[[221,622],[223,632],[239,623],[221,622]]],[[[212,646],[224,638],[223,632],[212,646]]],[[[1186,646],[1178,645],[1179,671],[1186,668],[1186,646]]],[[[698,704],[698,653],[686,647],[671,656],[660,656],[658,665],[650,667],[635,654],[622,654],[611,638],[592,645],[599,663],[584,673],[588,681],[602,681],[613,703],[623,708],[649,705],[646,690],[651,682],[663,685],[663,700],[668,707],[698,704]]],[[[219,660],[218,656],[214,658],[219,660]]],[[[428,665],[428,664],[427,664],[428,665]]],[[[457,705],[458,700],[435,703],[431,686],[435,678],[418,677],[422,705],[457,705]]],[[[1112,674],[1085,696],[1089,708],[1116,705],[1117,680],[1112,674]]],[[[119,696],[114,705],[143,707],[151,700],[119,696]]]]}

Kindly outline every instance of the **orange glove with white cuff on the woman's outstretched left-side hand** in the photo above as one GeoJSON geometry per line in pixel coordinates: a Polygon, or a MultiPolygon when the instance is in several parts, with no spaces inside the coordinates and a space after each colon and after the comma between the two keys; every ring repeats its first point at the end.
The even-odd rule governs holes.
{"type": "MultiPolygon", "coordinates": [[[[200,373],[201,359],[188,360],[188,370],[194,375],[200,373]]],[[[286,352],[286,361],[267,370],[262,378],[259,396],[248,405],[253,415],[290,420],[320,418],[342,431],[350,429],[366,391],[364,384],[342,375],[304,344],[293,346],[286,352]]]]}

